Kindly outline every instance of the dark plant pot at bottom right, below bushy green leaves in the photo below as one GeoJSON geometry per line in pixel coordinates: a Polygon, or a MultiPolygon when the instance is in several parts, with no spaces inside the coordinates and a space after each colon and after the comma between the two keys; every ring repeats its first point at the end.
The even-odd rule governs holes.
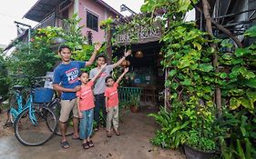
{"type": "Polygon", "coordinates": [[[214,156],[214,151],[200,151],[190,147],[188,144],[184,144],[184,150],[187,159],[210,159],[214,156]]]}

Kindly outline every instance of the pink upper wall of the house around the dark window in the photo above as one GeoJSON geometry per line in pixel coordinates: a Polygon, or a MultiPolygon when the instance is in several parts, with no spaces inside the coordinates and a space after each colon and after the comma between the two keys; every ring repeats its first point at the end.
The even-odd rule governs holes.
{"type": "Polygon", "coordinates": [[[95,43],[105,41],[104,30],[99,28],[101,21],[106,20],[109,16],[115,17],[116,15],[110,13],[107,8],[98,5],[94,0],[79,0],[78,16],[82,18],[79,26],[85,25],[85,27],[82,29],[82,34],[87,36],[87,31],[92,31],[93,43],[95,43]],[[93,15],[97,15],[98,31],[87,28],[87,10],[93,15]]]}

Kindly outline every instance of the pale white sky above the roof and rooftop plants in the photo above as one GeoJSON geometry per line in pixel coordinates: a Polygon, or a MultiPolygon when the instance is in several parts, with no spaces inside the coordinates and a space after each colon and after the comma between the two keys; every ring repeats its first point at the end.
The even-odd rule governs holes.
{"type": "MultiPolygon", "coordinates": [[[[0,10],[0,45],[8,45],[17,35],[16,22],[26,25],[35,26],[37,23],[23,16],[26,12],[36,4],[37,0],[8,0],[2,3],[0,10]]],[[[120,12],[120,5],[127,5],[136,13],[139,13],[139,8],[143,5],[144,0],[104,0],[108,5],[112,6],[120,12]]],[[[121,12],[123,15],[130,15],[128,11],[121,12]]]]}

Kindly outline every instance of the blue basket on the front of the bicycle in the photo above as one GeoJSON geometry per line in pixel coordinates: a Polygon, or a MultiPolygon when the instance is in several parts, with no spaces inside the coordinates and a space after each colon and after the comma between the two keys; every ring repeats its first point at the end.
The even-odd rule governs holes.
{"type": "Polygon", "coordinates": [[[50,88],[38,87],[35,90],[35,103],[49,103],[53,98],[54,90],[50,88]]]}

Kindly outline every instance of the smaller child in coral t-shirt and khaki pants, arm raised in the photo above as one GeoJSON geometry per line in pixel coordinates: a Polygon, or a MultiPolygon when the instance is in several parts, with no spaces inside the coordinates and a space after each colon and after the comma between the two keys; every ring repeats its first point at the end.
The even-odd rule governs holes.
{"type": "Polygon", "coordinates": [[[122,77],[128,72],[125,68],[122,75],[118,77],[117,82],[114,82],[113,77],[108,76],[105,80],[107,88],[105,90],[105,103],[107,112],[107,136],[111,137],[111,124],[113,123],[114,131],[117,135],[118,132],[118,83],[122,77]]]}

